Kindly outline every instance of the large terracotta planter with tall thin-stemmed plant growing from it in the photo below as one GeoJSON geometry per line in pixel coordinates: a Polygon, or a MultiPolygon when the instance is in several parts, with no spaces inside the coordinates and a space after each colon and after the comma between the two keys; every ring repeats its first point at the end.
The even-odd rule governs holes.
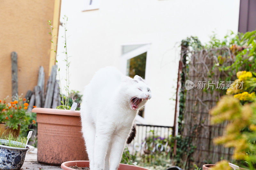
{"type": "MultiPolygon", "coordinates": [[[[84,139],[81,132],[80,112],[70,110],[73,102],[79,105],[81,95],[69,90],[69,72],[68,52],[66,46],[67,17],[64,17],[63,26],[65,28],[65,59],[66,62],[66,83],[63,86],[61,81],[60,97],[61,105],[57,108],[33,108],[32,112],[36,113],[37,122],[37,161],[47,164],[60,165],[62,162],[69,160],[88,160],[85,151],[84,139]],[[62,92],[62,90],[64,91],[62,92]]],[[[52,35],[52,25],[51,35],[52,35]]],[[[52,37],[53,38],[53,37],[52,37]]],[[[56,56],[56,50],[55,56],[56,56]]],[[[58,62],[56,61],[56,64],[58,62]]],[[[56,69],[56,66],[53,66],[56,69]]],[[[60,69],[57,70],[60,78],[60,69]]]]}

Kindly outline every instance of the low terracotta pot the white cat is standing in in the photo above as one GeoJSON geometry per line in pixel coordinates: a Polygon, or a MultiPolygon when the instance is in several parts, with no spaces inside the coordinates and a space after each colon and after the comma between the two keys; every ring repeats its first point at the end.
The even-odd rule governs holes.
{"type": "MultiPolygon", "coordinates": [[[[75,161],[74,160],[74,161],[63,162],[60,167],[65,170],[74,170],[73,168],[70,168],[69,166],[89,167],[89,161],[85,161],[85,160],[75,161]]],[[[143,168],[140,166],[120,164],[118,170],[150,170],[150,169],[143,168]]]]}

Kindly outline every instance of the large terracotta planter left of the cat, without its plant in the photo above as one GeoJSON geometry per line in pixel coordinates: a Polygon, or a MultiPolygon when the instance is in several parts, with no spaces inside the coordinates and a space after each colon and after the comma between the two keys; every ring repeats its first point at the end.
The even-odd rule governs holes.
{"type": "Polygon", "coordinates": [[[70,160],[88,160],[79,111],[36,107],[32,112],[38,123],[38,162],[60,165],[70,160]]]}

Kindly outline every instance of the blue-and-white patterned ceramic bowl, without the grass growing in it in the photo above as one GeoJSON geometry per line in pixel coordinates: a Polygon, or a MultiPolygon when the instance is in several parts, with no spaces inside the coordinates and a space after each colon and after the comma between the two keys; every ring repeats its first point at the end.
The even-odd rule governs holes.
{"type": "MultiPolygon", "coordinates": [[[[0,139],[0,143],[5,143],[7,140],[0,139]]],[[[20,143],[12,141],[13,143],[20,143]]],[[[25,144],[24,144],[25,145],[25,144]]],[[[0,169],[20,169],[23,165],[27,148],[15,148],[0,144],[0,169]]]]}

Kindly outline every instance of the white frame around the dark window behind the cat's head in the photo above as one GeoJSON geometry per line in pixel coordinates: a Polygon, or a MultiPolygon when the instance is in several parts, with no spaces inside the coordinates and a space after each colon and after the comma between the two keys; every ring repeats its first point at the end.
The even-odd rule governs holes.
{"type": "MultiPolygon", "coordinates": [[[[130,43],[130,44],[122,44],[122,46],[126,45],[140,45],[145,44],[139,48],[136,48],[132,51],[129,51],[127,53],[124,53],[121,55],[121,72],[126,75],[127,71],[127,61],[133,57],[136,57],[140,54],[147,52],[147,58],[146,58],[146,68],[145,68],[145,80],[147,81],[148,78],[148,63],[150,62],[150,55],[151,55],[151,44],[150,43],[130,43]]],[[[141,117],[139,115],[135,118],[136,121],[140,122],[141,124],[147,124],[147,107],[144,108],[144,117],[141,117]]]]}

